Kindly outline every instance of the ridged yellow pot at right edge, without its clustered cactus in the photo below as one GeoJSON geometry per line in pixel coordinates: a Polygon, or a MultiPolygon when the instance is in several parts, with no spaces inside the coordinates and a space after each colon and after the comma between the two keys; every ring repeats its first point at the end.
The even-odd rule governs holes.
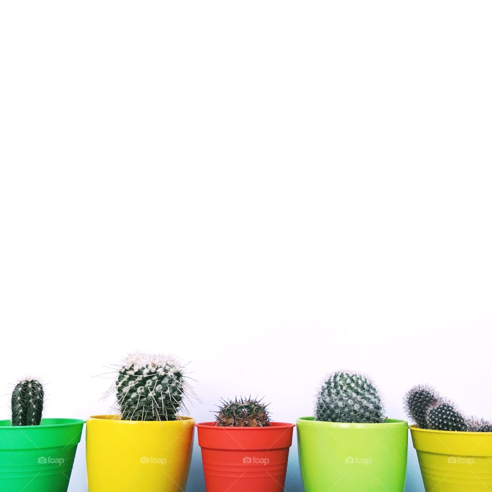
{"type": "Polygon", "coordinates": [[[427,492],[490,492],[492,433],[410,426],[427,492]]]}

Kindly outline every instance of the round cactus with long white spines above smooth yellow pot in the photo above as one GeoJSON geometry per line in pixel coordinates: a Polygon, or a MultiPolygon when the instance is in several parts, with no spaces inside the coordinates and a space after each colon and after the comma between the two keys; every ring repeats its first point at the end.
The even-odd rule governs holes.
{"type": "Polygon", "coordinates": [[[189,388],[185,368],[170,356],[130,354],[119,367],[116,396],[123,420],[179,420],[189,388]]]}

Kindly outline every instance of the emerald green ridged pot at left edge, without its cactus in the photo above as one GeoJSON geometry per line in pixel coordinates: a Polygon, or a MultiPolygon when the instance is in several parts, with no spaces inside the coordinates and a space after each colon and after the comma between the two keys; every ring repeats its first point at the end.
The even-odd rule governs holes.
{"type": "Polygon", "coordinates": [[[67,492],[83,427],[77,419],[22,427],[0,420],[0,490],[67,492]]]}

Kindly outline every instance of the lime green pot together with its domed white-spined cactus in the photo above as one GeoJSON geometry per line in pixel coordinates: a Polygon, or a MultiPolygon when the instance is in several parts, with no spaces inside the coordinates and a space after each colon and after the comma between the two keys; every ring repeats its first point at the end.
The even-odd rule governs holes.
{"type": "Polygon", "coordinates": [[[408,431],[387,419],[374,383],[355,373],[327,376],[315,415],[297,420],[299,462],[306,492],[402,492],[408,431]]]}

